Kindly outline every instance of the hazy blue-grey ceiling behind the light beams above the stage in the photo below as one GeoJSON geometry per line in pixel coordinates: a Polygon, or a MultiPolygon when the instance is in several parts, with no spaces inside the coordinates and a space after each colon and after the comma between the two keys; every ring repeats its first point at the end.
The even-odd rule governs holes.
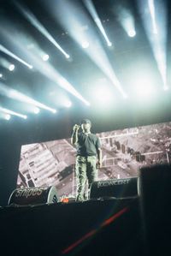
{"type": "MultiPolygon", "coordinates": [[[[9,57],[8,54],[0,51],[1,59],[6,59],[15,64],[14,72],[9,72],[9,70],[3,68],[3,66],[0,67],[0,73],[3,74],[0,81],[5,84],[5,86],[14,88],[41,103],[49,105],[51,108],[59,109],[56,115],[47,110],[42,110],[38,116],[28,114],[27,120],[21,120],[21,118],[17,116],[13,117],[9,122],[2,120],[1,123],[5,123],[4,127],[9,129],[9,131],[15,131],[15,134],[18,134],[19,131],[21,134],[27,134],[27,140],[33,142],[35,140],[47,140],[44,137],[44,134],[49,134],[49,140],[52,139],[52,137],[68,136],[74,122],[80,122],[82,116],[88,116],[94,120],[94,130],[96,132],[121,127],[131,127],[134,125],[143,125],[150,122],[167,121],[170,118],[171,95],[169,90],[167,92],[163,92],[162,90],[162,77],[158,72],[149,40],[144,32],[142,16],[138,9],[139,0],[92,1],[110,41],[115,45],[111,48],[106,45],[105,40],[103,39],[102,34],[98,31],[91,15],[88,13],[87,9],[85,9],[83,1],[62,1],[74,3],[78,6],[80,14],[85,13],[89,18],[89,20],[87,20],[88,23],[83,23],[82,27],[88,27],[88,29],[89,26],[93,27],[97,38],[100,39],[101,44],[103,45],[103,50],[109,59],[109,63],[113,70],[115,70],[115,74],[121,81],[121,86],[124,91],[127,92],[129,98],[127,98],[127,100],[122,98],[121,93],[111,84],[111,81],[106,74],[104,74],[104,72],[97,67],[97,64],[93,63],[91,58],[85,54],[85,51],[88,51],[88,49],[82,49],[71,37],[71,33],[62,27],[60,22],[57,22],[57,19],[50,14],[50,8],[56,6],[58,20],[60,20],[63,15],[66,15],[58,8],[58,4],[61,0],[22,0],[18,3],[21,3],[22,6],[32,12],[32,15],[34,15],[50,35],[56,39],[56,42],[70,54],[71,60],[67,60],[62,55],[61,51],[57,50],[36,27],[32,26],[32,24],[27,21],[26,17],[22,15],[17,8],[15,1],[4,0],[1,1],[0,7],[0,45],[3,45],[26,62],[26,56],[24,56],[23,52],[21,52],[21,48],[17,45],[17,39],[21,36],[20,45],[30,52],[32,52],[32,45],[38,45],[38,49],[49,54],[50,65],[52,65],[57,72],[62,74],[62,76],[65,77],[86,100],[91,102],[91,106],[87,107],[80,101],[80,99],[75,98],[69,92],[65,92],[73,105],[70,109],[62,107],[58,108],[56,101],[58,101],[59,98],[57,97],[63,92],[63,89],[60,86],[57,86],[54,81],[50,80],[50,77],[47,77],[47,75],[40,72],[38,66],[29,69],[14,58],[9,57]],[[50,8],[48,8],[48,5],[50,8]],[[121,27],[121,23],[117,18],[117,12],[115,12],[118,5],[128,9],[132,13],[135,19],[135,28],[137,32],[135,38],[128,37],[127,33],[121,27]],[[136,77],[139,73],[139,83],[144,77],[148,80],[148,74],[145,72],[148,73],[149,70],[152,70],[153,83],[156,86],[156,100],[154,103],[147,103],[146,101],[145,103],[144,101],[139,102],[139,100],[133,96],[133,80],[129,80],[129,74],[132,72],[132,75],[135,75],[136,77]],[[95,83],[97,84],[101,80],[107,80],[107,83],[109,83],[109,86],[112,88],[111,93],[113,93],[114,102],[109,109],[106,109],[105,105],[101,105],[100,107],[97,105],[97,95],[96,92],[93,91],[95,83]],[[94,95],[92,95],[93,93],[94,95]],[[25,130],[25,132],[23,130],[25,130]],[[58,135],[56,135],[56,133],[58,133],[58,135]]],[[[167,78],[168,86],[170,86],[170,1],[162,2],[166,3],[168,12],[166,32],[167,78]]],[[[67,19],[68,16],[66,16],[66,20],[67,19]]],[[[96,42],[94,43],[96,45],[96,42]]],[[[98,49],[96,54],[98,54],[98,49]]],[[[32,63],[32,59],[29,59],[29,61],[32,63]]],[[[139,83],[139,86],[142,85],[139,83]]],[[[15,99],[7,98],[1,92],[0,94],[0,102],[3,108],[25,114],[23,104],[15,99]]]]}

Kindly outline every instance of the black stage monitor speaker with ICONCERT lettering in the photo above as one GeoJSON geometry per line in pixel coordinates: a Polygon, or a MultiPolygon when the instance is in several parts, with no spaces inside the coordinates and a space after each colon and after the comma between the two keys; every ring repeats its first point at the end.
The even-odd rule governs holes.
{"type": "Polygon", "coordinates": [[[90,199],[98,198],[130,198],[138,196],[138,177],[126,179],[111,179],[93,182],[90,199]]]}

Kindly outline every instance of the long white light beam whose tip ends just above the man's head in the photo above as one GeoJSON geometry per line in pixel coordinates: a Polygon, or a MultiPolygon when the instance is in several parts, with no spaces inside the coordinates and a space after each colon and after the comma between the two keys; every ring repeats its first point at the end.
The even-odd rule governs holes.
{"type": "Polygon", "coordinates": [[[82,95],[77,92],[77,90],[74,89],[74,86],[72,86],[68,80],[62,76],[62,74],[58,73],[57,70],[52,65],[50,65],[50,63],[43,62],[42,58],[37,57],[34,53],[27,50],[25,45],[22,44],[22,41],[25,41],[26,39],[25,34],[17,34],[17,31],[15,31],[14,40],[14,27],[11,28],[10,24],[9,27],[7,27],[7,25],[8,24],[6,24],[6,27],[1,27],[0,24],[1,34],[3,34],[5,39],[11,42],[12,46],[15,47],[17,51],[22,52],[22,54],[33,63],[35,69],[38,68],[38,72],[48,77],[48,79],[52,80],[55,84],[57,84],[57,86],[61,86],[66,91],[73,94],[76,98],[79,98],[84,104],[88,106],[90,105],[90,103],[85,100],[85,98],[83,98],[82,95]]]}

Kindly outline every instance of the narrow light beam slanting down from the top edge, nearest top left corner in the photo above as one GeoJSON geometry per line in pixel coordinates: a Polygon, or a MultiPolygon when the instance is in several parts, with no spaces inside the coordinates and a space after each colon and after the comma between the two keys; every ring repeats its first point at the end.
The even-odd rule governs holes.
{"type": "Polygon", "coordinates": [[[21,4],[17,2],[15,2],[15,5],[21,11],[21,14],[27,18],[27,21],[31,22],[32,26],[36,27],[38,31],[42,33],[44,37],[48,39],[53,45],[55,45],[56,48],[61,51],[66,58],[69,58],[68,53],[64,51],[59,44],[57,44],[56,40],[50,35],[47,29],[38,21],[38,19],[30,12],[29,9],[21,6],[21,4]]]}

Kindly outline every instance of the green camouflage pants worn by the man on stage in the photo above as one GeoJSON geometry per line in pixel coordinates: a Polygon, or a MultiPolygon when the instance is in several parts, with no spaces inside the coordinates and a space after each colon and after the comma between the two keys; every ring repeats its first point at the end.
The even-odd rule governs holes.
{"type": "Polygon", "coordinates": [[[77,197],[76,200],[83,201],[85,197],[85,185],[88,180],[88,189],[91,183],[97,180],[97,158],[95,156],[77,156],[75,164],[77,197]]]}

